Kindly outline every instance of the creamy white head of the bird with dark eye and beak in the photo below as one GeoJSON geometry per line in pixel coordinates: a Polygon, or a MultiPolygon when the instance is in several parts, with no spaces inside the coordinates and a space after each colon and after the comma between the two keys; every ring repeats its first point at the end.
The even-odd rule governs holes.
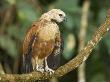
{"type": "Polygon", "coordinates": [[[47,13],[44,13],[40,19],[46,19],[48,21],[62,22],[66,19],[66,14],[60,9],[52,9],[47,13]]]}

